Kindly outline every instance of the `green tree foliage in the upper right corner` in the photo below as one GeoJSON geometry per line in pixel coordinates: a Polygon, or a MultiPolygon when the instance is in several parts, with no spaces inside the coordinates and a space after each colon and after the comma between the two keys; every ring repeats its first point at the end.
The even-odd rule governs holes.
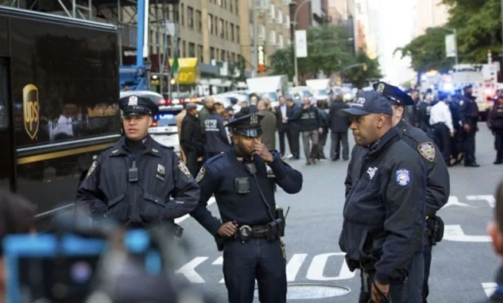
{"type": "Polygon", "coordinates": [[[460,63],[486,63],[487,52],[500,53],[502,48],[502,20],[500,0],[442,0],[449,6],[450,18],[445,28],[429,28],[396,51],[411,56],[414,70],[445,69],[453,65],[453,58],[445,57],[448,28],[458,32],[458,60],[460,63]]]}

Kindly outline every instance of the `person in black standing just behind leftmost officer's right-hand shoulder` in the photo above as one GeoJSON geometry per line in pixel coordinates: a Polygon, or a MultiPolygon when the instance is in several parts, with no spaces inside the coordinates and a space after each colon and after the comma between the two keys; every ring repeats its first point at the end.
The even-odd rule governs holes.
{"type": "Polygon", "coordinates": [[[201,130],[197,105],[189,103],[186,109],[187,114],[182,121],[180,143],[183,151],[185,151],[185,158],[187,158],[187,167],[189,168],[190,174],[196,176],[199,170],[198,159],[201,157],[207,158],[207,154],[204,150],[205,132],[201,130]]]}

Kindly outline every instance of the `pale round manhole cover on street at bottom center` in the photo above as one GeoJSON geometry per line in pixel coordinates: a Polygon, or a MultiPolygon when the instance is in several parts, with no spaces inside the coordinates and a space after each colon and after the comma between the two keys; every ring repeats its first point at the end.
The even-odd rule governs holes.
{"type": "MultiPolygon", "coordinates": [[[[348,289],[347,287],[329,284],[288,284],[287,300],[342,297],[350,292],[351,289],[348,289]]],[[[255,297],[258,297],[258,289],[255,289],[255,297]]]]}

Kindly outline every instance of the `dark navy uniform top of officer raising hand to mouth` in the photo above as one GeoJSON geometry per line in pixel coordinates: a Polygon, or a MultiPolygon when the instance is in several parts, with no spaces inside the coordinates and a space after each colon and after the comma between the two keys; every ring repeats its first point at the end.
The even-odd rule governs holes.
{"type": "MultiPolygon", "coordinates": [[[[296,194],[302,189],[302,174],[285,163],[278,151],[272,151],[274,160],[266,165],[260,157],[254,157],[256,177],[267,203],[274,211],[274,184],[278,184],[288,194],[296,194]],[[267,169],[267,166],[270,169],[267,169]],[[269,170],[269,172],[268,172],[269,170]]],[[[234,149],[210,158],[203,165],[196,180],[201,187],[201,200],[190,213],[209,233],[216,236],[222,222],[208,211],[207,202],[214,194],[223,222],[236,221],[239,225],[257,226],[271,222],[254,177],[247,171],[242,159],[234,149]],[[249,193],[236,192],[236,178],[248,178],[249,193]]]]}

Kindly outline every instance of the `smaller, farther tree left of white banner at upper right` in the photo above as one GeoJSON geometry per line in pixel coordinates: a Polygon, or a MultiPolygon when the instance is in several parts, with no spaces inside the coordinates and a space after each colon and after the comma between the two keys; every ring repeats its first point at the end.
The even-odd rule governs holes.
{"type": "Polygon", "coordinates": [[[449,33],[444,28],[428,28],[395,53],[401,52],[402,58],[411,56],[411,67],[417,72],[449,69],[454,63],[453,58],[445,56],[445,36],[449,33]]]}

